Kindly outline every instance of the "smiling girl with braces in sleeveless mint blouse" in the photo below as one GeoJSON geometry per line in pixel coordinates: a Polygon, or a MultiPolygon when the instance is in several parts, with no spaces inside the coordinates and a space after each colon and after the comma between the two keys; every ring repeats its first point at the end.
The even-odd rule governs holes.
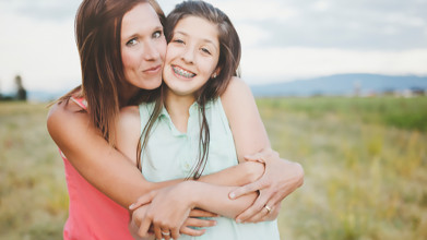
{"type": "MultiPolygon", "coordinates": [[[[269,147],[253,97],[234,77],[240,40],[229,19],[209,3],[186,1],[168,15],[165,32],[166,85],[155,104],[122,109],[117,147],[134,160],[150,181],[186,177],[198,180],[202,175],[237,165],[237,158],[242,163],[250,151],[269,147]],[[242,128],[244,121],[249,122],[244,125],[247,129],[242,128]],[[257,141],[245,141],[248,139],[257,141]],[[142,149],[138,147],[135,154],[140,145],[142,149]]],[[[187,214],[200,207],[225,216],[216,218],[217,225],[201,239],[278,239],[275,221],[242,225],[232,219],[251,205],[256,193],[232,201],[227,195],[236,185],[233,176],[226,176],[221,185],[187,181],[154,191],[146,202],[143,196],[132,206],[152,201],[144,206],[140,235],[144,237],[153,225],[156,239],[177,239],[187,214]],[[168,205],[175,206],[173,213],[164,211],[168,205]],[[178,224],[169,225],[175,219],[178,224]]],[[[271,209],[265,206],[263,215],[271,209]]]]}

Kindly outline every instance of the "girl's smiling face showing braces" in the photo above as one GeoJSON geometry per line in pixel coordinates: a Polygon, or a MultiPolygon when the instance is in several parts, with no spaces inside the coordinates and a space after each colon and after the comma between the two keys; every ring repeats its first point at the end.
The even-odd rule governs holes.
{"type": "Polygon", "coordinates": [[[167,46],[163,79],[173,93],[193,95],[214,74],[218,58],[217,27],[202,17],[186,16],[167,46]]]}

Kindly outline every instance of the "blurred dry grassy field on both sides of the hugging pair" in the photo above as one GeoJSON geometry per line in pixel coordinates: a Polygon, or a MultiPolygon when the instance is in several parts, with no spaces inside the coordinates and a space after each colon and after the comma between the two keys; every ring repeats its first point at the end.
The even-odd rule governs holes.
{"type": "MultiPolygon", "coordinates": [[[[282,239],[427,239],[426,97],[258,106],[274,149],[306,173],[283,203],[282,239]]],[[[61,239],[68,194],[46,115],[0,103],[0,239],[61,239]]]]}

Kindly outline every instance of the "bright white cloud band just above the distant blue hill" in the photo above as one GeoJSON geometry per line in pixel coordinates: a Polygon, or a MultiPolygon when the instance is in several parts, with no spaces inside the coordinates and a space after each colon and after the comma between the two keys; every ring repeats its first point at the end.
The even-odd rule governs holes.
{"type": "Polygon", "coordinates": [[[427,75],[427,49],[356,51],[333,48],[245,49],[242,76],[250,84],[337,73],[427,75]]]}

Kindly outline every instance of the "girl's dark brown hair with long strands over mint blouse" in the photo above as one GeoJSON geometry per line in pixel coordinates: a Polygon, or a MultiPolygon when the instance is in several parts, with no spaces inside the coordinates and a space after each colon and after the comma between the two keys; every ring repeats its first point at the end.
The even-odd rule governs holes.
{"type": "MultiPolygon", "coordinates": [[[[211,77],[197,94],[197,103],[200,107],[200,115],[202,116],[202,127],[200,129],[201,151],[199,152],[199,160],[192,169],[191,176],[193,179],[200,178],[206,165],[209,155],[210,131],[205,116],[205,105],[218,96],[221,96],[228,86],[233,76],[238,75],[238,67],[241,56],[241,46],[239,36],[232,24],[228,16],[217,8],[203,1],[185,1],[175,7],[175,9],[167,15],[165,36],[166,40],[170,43],[174,36],[174,28],[178,22],[186,16],[198,16],[207,20],[210,23],[217,26],[218,41],[220,41],[220,59],[216,70],[220,73],[216,77],[211,77]]],[[[162,85],[165,87],[165,84],[162,85]]],[[[146,146],[149,133],[154,124],[153,118],[156,119],[163,107],[163,99],[159,97],[154,108],[154,116],[145,125],[142,142],[142,148],[146,146]]],[[[140,166],[140,156],[138,157],[138,165],[140,166]]]]}

